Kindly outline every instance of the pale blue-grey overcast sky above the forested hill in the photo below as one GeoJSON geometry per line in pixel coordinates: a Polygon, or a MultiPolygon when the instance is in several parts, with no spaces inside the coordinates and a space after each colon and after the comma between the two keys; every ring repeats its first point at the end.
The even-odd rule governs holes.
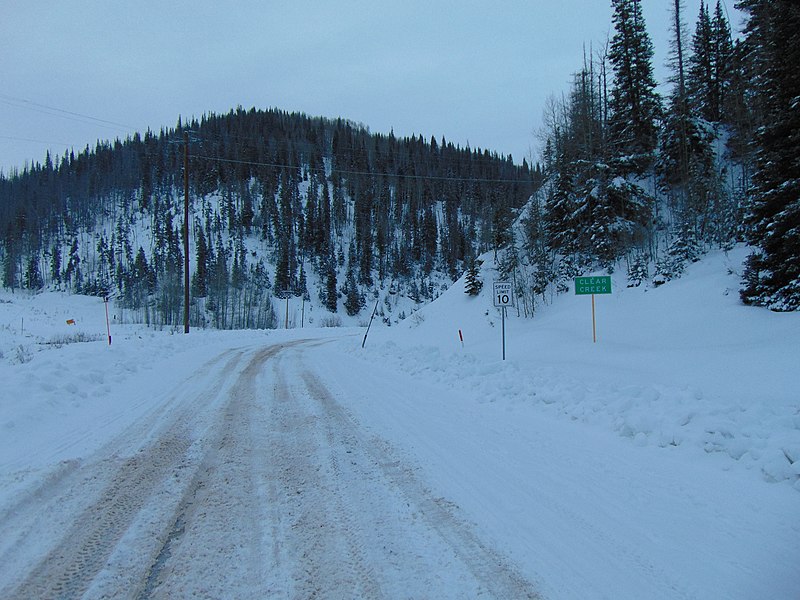
{"type": "MultiPolygon", "coordinates": [[[[659,79],[671,3],[643,0],[659,79]]],[[[690,29],[699,6],[685,0],[690,29]]],[[[536,160],[547,98],[613,33],[610,0],[6,0],[3,13],[6,175],[48,148],[239,105],[536,160]]]]}

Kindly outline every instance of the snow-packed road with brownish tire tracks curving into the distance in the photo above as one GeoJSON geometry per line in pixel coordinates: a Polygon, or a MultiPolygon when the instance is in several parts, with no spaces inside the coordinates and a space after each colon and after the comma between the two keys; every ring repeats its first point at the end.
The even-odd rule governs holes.
{"type": "Polygon", "coordinates": [[[0,508],[4,598],[534,598],[314,346],[221,352],[0,508]]]}

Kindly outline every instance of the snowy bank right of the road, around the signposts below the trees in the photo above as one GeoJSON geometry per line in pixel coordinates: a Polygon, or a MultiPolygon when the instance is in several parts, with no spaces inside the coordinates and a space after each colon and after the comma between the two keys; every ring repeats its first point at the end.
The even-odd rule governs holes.
{"type": "Polygon", "coordinates": [[[742,306],[735,289],[743,258],[743,249],[711,256],[657,289],[615,279],[611,296],[596,297],[597,344],[585,298],[558,297],[533,320],[510,310],[506,361],[486,291],[493,274],[484,270],[477,301],[456,284],[403,335],[381,332],[362,356],[481,402],[535,403],[544,415],[636,446],[725,457],[723,469],[757,469],[800,491],[800,314],[742,306]]]}

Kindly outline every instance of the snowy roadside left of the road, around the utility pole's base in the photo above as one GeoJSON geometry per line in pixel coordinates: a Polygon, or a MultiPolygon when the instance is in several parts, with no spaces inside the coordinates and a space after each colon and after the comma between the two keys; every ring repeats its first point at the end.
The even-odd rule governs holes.
{"type": "Polygon", "coordinates": [[[221,348],[276,333],[192,330],[187,344],[182,329],[120,325],[122,316],[112,301],[109,346],[102,299],[0,292],[0,472],[27,477],[85,455],[221,348]]]}

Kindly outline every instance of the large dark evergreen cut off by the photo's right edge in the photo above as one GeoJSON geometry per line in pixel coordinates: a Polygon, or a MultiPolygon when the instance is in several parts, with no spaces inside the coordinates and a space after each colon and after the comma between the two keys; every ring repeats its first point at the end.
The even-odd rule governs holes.
{"type": "Polygon", "coordinates": [[[748,216],[756,247],[742,299],[773,310],[800,309],[800,3],[744,0],[754,56],[756,101],[764,121],[756,138],[757,172],[748,216]]]}

